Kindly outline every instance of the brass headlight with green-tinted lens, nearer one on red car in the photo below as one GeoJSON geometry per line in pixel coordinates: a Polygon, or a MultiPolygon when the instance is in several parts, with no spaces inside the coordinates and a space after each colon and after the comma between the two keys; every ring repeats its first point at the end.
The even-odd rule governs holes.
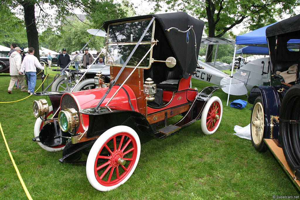
{"type": "Polygon", "coordinates": [[[63,132],[72,130],[79,124],[77,111],[73,108],[62,110],[58,113],[58,124],[63,132]]]}

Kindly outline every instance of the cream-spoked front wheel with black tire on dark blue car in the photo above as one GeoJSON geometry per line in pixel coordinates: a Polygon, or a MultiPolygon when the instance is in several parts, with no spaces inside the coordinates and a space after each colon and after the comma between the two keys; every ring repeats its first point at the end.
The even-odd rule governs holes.
{"type": "Polygon", "coordinates": [[[265,136],[265,115],[262,97],[258,96],[251,111],[251,141],[252,146],[258,152],[265,152],[268,150],[268,146],[263,141],[265,136]]]}

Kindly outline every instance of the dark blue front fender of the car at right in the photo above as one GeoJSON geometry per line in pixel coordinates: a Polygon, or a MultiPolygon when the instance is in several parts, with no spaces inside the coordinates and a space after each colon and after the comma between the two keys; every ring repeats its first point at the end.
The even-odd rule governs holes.
{"type": "Polygon", "coordinates": [[[264,108],[264,138],[265,139],[276,139],[279,141],[278,127],[274,126],[273,134],[271,138],[271,116],[279,116],[281,106],[281,92],[278,90],[279,86],[254,86],[249,94],[248,102],[253,104],[254,100],[258,97],[262,97],[263,108],[264,108]]]}

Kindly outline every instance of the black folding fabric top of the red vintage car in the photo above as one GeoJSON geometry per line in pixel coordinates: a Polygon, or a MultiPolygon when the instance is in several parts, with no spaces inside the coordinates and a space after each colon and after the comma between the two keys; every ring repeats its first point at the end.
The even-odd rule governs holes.
{"type": "MultiPolygon", "coordinates": [[[[104,28],[107,32],[108,26],[112,23],[126,22],[137,19],[149,19],[155,17],[156,25],[161,25],[162,30],[167,37],[168,43],[170,44],[171,49],[177,60],[177,64],[181,67],[183,73],[182,76],[187,79],[188,76],[193,74],[196,69],[196,56],[195,56],[195,37],[193,31],[190,30],[189,42],[187,43],[187,34],[179,33],[176,30],[170,30],[170,32],[165,31],[168,28],[176,27],[182,31],[186,31],[189,28],[189,25],[193,25],[193,30],[196,34],[196,55],[199,54],[199,47],[201,43],[202,31],[204,28],[204,22],[199,19],[195,19],[189,16],[185,12],[177,13],[165,13],[165,14],[153,14],[153,15],[143,15],[143,16],[134,16],[123,19],[115,19],[104,22],[104,28]]],[[[155,32],[156,34],[156,32],[155,32]]],[[[155,39],[155,38],[154,38],[155,39]]]]}

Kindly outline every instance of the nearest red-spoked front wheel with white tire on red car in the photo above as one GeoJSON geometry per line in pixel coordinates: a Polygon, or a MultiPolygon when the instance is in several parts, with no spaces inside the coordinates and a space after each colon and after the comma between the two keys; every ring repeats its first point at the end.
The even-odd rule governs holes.
{"type": "Polygon", "coordinates": [[[109,191],[125,183],[140,158],[140,139],[127,126],[116,126],[103,133],[91,148],[86,175],[97,190],[109,191]]]}

